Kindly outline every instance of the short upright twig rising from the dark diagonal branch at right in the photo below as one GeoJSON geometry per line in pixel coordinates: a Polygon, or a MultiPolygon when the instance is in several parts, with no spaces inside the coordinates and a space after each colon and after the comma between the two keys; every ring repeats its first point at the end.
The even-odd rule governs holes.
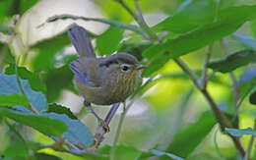
{"type": "Polygon", "coordinates": [[[206,53],[206,59],[205,59],[204,68],[202,71],[202,77],[201,77],[201,81],[200,81],[202,88],[206,88],[206,85],[207,85],[207,81],[208,81],[207,65],[208,65],[211,55],[213,53],[213,46],[214,46],[213,43],[209,44],[208,51],[206,53]]]}

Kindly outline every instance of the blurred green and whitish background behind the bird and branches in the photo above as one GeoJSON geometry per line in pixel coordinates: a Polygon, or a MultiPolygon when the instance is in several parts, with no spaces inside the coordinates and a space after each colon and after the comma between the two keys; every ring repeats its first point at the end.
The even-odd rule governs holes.
{"type": "MultiPolygon", "coordinates": [[[[198,12],[195,18],[190,17],[195,19],[195,24],[197,24],[197,20],[201,20],[200,14],[209,14],[207,11],[201,13],[201,10],[206,7],[204,5],[207,5],[204,0],[201,1],[200,5],[192,6],[190,10],[183,13],[184,15],[181,15],[179,19],[181,23],[186,25],[186,22],[182,22],[182,18],[190,17],[191,13],[197,15],[198,12]]],[[[232,6],[256,5],[256,0],[216,1],[218,3],[213,3],[213,5],[218,4],[218,7],[208,7],[224,9],[232,6]]],[[[135,9],[134,1],[126,0],[125,2],[135,9]]],[[[186,4],[194,2],[196,0],[139,1],[145,20],[150,27],[156,26],[173,14],[175,15],[186,4]]],[[[19,57],[19,65],[35,73],[42,82],[41,86],[37,87],[44,90],[43,93],[45,93],[47,101],[70,108],[89,127],[91,133],[95,133],[96,119],[83,108],[83,98],[73,84],[73,74],[68,67],[69,62],[76,59],[77,55],[67,37],[67,28],[76,23],[88,29],[98,55],[111,54],[116,50],[127,51],[136,55],[142,62],[146,62],[145,59],[142,59],[142,52],[152,44],[144,40],[141,35],[123,29],[118,30],[118,28],[112,30],[112,36],[103,36],[102,33],[105,30],[111,31],[109,26],[93,21],[58,20],[40,26],[49,17],[63,14],[136,24],[127,11],[114,0],[0,0],[0,71],[4,72],[9,64],[15,62],[14,59],[19,57]],[[16,30],[16,36],[13,36],[11,29],[16,30]],[[119,40],[118,34],[121,34],[119,40]],[[110,41],[115,38],[117,38],[117,43],[112,44],[110,41]],[[111,46],[111,48],[107,48],[107,46],[111,46]]],[[[162,29],[164,30],[164,28],[162,29]]],[[[156,28],[156,30],[158,29],[156,28]]],[[[248,35],[254,42],[256,21],[246,22],[236,32],[248,35]]],[[[160,32],[158,33],[160,34],[160,32]]],[[[173,31],[167,36],[178,35],[180,35],[178,31],[173,31]]],[[[241,37],[237,37],[234,34],[224,37],[229,54],[250,48],[241,37]]],[[[208,47],[203,47],[182,56],[181,59],[193,71],[200,73],[204,66],[207,50],[208,47]]],[[[224,59],[219,41],[213,43],[212,55],[211,61],[224,59]]],[[[239,80],[244,72],[251,67],[253,67],[252,64],[240,67],[233,74],[239,80]]],[[[120,147],[117,148],[117,152],[120,154],[118,155],[119,159],[133,159],[140,154],[140,151],[148,151],[153,148],[190,160],[238,159],[231,139],[222,133],[205,97],[173,60],[164,64],[159,71],[151,75],[151,78],[160,79],[155,80],[141,96],[135,97],[135,103],[125,117],[119,139],[120,147]]],[[[144,81],[148,79],[144,78],[144,81]]],[[[232,82],[228,74],[216,73],[214,79],[208,83],[210,94],[227,115],[234,114],[231,88],[232,82]]],[[[95,110],[101,117],[104,117],[109,107],[96,106],[95,110]]],[[[240,129],[253,128],[255,111],[255,106],[249,103],[247,96],[239,108],[238,125],[240,129]]],[[[111,132],[105,135],[100,147],[107,148],[112,144],[121,112],[122,108],[120,107],[110,124],[111,132]]],[[[32,130],[32,128],[0,117],[0,153],[6,154],[8,150],[11,150],[10,154],[14,154],[14,152],[20,154],[23,150],[16,145],[19,143],[19,135],[6,122],[28,141],[36,141],[44,145],[53,143],[51,138],[32,130]]],[[[241,138],[245,148],[249,139],[249,135],[244,135],[241,138]]],[[[255,151],[253,145],[252,155],[256,153],[255,151]]],[[[50,148],[39,149],[38,152],[56,155],[64,160],[83,159],[50,148]]],[[[21,155],[23,154],[21,153],[21,155]]],[[[252,157],[256,159],[256,154],[252,157]]],[[[169,158],[165,157],[165,159],[169,158]]]]}

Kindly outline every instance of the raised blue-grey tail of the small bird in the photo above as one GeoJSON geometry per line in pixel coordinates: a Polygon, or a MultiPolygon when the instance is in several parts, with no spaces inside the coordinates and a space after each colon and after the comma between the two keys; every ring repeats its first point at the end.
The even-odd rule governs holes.
{"type": "Polygon", "coordinates": [[[84,27],[71,27],[68,35],[80,56],[96,57],[89,35],[84,27]]]}

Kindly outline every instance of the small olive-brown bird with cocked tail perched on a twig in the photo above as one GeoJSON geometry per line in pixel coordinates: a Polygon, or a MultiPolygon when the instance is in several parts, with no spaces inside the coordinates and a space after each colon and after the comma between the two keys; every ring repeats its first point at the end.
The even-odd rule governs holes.
{"type": "Polygon", "coordinates": [[[85,99],[85,105],[111,105],[124,102],[140,85],[142,70],[137,58],[129,53],[114,53],[96,57],[92,42],[84,27],[73,26],[68,35],[79,58],[70,63],[75,75],[74,83],[85,99]]]}

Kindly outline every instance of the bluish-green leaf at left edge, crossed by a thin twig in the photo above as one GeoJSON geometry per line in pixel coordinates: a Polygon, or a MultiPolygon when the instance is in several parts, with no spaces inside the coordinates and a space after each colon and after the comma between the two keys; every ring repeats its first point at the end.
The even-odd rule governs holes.
{"type": "MultiPolygon", "coordinates": [[[[39,112],[47,109],[47,101],[44,94],[32,90],[29,80],[21,80],[21,86],[23,87],[29,102],[32,104],[32,107],[39,112]]],[[[0,96],[12,94],[23,94],[20,90],[16,76],[0,74],[0,96]]]]}

